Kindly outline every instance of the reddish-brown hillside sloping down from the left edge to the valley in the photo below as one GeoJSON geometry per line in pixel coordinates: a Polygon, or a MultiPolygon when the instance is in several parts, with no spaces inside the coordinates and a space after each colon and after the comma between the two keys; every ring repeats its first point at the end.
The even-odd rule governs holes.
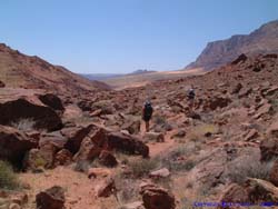
{"type": "Polygon", "coordinates": [[[56,91],[99,90],[109,87],[89,81],[63,67],[53,66],[38,57],[29,57],[0,44],[0,81],[7,87],[56,91]]]}

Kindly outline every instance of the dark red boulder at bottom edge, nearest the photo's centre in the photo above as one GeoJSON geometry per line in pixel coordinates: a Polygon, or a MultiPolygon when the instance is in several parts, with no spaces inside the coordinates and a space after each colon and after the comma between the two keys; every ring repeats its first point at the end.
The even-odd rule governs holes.
{"type": "Polygon", "coordinates": [[[175,209],[175,197],[166,189],[152,183],[142,183],[140,186],[140,195],[142,196],[146,209],[175,209]]]}

